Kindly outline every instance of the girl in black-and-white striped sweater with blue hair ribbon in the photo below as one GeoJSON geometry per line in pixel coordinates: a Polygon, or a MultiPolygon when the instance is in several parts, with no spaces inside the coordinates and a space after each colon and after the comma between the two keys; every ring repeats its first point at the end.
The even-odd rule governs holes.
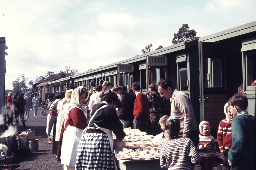
{"type": "Polygon", "coordinates": [[[175,116],[166,120],[165,130],[169,135],[169,139],[165,141],[161,147],[161,168],[168,168],[168,170],[194,169],[194,165],[200,163],[201,156],[197,152],[197,149],[192,140],[178,135],[180,131],[180,122],[178,119],[175,119],[175,116]]]}

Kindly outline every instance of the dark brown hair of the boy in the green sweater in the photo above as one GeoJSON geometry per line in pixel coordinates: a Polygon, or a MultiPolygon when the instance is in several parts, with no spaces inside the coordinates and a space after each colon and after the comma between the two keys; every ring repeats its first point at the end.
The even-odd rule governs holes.
{"type": "Polygon", "coordinates": [[[241,110],[247,110],[248,99],[243,93],[235,93],[230,99],[228,99],[228,105],[237,106],[241,110]]]}

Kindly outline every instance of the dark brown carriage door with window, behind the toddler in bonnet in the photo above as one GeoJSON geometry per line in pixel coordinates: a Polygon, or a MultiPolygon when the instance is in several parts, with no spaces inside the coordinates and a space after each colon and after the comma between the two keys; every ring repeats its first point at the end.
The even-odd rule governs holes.
{"type": "Polygon", "coordinates": [[[224,48],[219,42],[200,42],[199,51],[201,121],[217,129],[227,102],[224,48]]]}

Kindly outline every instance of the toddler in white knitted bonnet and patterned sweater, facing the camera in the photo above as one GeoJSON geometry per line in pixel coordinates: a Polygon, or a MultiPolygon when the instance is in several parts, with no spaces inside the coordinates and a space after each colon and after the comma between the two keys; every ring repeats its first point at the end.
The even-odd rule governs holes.
{"type": "Polygon", "coordinates": [[[212,170],[216,144],[214,137],[210,135],[210,123],[202,121],[199,124],[199,131],[200,134],[197,150],[202,156],[200,166],[202,170],[212,170]]]}

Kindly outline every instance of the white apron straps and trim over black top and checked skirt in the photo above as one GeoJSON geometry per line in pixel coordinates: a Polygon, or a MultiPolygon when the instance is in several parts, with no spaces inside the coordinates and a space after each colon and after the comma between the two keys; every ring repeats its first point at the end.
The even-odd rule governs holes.
{"type": "Polygon", "coordinates": [[[106,129],[106,128],[103,128],[103,127],[98,127],[96,123],[94,123],[94,125],[97,127],[89,127],[92,119],[94,118],[94,116],[97,114],[97,112],[101,109],[103,109],[104,107],[107,107],[108,105],[103,105],[102,107],[100,107],[98,110],[95,111],[95,113],[91,116],[91,113],[90,113],[90,116],[91,116],[91,119],[88,123],[88,126],[84,129],[83,131],[83,134],[86,132],[87,129],[100,129],[102,130],[103,132],[107,133],[108,135],[108,138],[109,138],[109,143],[110,143],[110,148],[112,150],[112,156],[113,156],[113,161],[114,161],[114,167],[115,167],[115,170],[117,170],[117,166],[116,166],[116,161],[115,161],[115,156],[113,155],[113,152],[114,152],[114,148],[113,148],[113,145],[114,145],[114,139],[113,139],[113,136],[112,136],[112,130],[109,130],[109,129],[106,129]]]}

